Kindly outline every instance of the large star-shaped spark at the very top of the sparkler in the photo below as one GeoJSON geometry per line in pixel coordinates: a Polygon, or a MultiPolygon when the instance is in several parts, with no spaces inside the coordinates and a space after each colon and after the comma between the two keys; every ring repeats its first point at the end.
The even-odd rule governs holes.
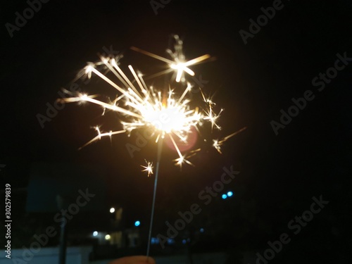
{"type": "Polygon", "coordinates": [[[180,82],[181,80],[182,82],[184,82],[185,80],[184,73],[188,73],[189,75],[194,76],[194,71],[191,70],[189,66],[201,63],[201,61],[205,61],[206,59],[210,58],[210,55],[205,54],[203,56],[193,58],[190,61],[186,61],[186,58],[182,51],[182,45],[183,45],[182,40],[177,35],[174,35],[173,37],[175,39],[175,46],[174,46],[175,51],[172,51],[171,49],[166,50],[166,52],[172,57],[173,61],[169,60],[168,58],[163,58],[162,56],[152,54],[149,51],[144,51],[143,49],[136,48],[134,46],[132,46],[131,49],[134,51],[138,51],[144,55],[151,56],[152,58],[156,58],[157,60],[163,61],[168,64],[169,68],[167,70],[163,70],[161,73],[156,73],[151,77],[156,77],[156,76],[171,73],[172,71],[174,71],[174,77],[176,82],[180,82]]]}

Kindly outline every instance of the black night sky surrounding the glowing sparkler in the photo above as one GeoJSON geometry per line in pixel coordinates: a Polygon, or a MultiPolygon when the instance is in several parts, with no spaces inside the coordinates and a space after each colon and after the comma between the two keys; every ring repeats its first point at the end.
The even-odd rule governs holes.
{"type": "MultiPolygon", "coordinates": [[[[103,188],[102,208],[122,205],[127,219],[142,219],[146,227],[154,178],[146,177],[140,164],[144,158],[156,160],[156,144],[148,142],[132,158],[126,144],[135,144],[136,134],[120,134],[78,151],[96,136],[91,127],[118,130],[119,116],[101,116],[101,108],[77,103],[66,103],[42,125],[38,114],[47,115],[48,103],[54,106],[58,92],[69,89],[87,62],[106,50],[123,54],[125,72],[131,64],[146,76],[157,73],[165,63],[130,47],[168,57],[170,36],[178,34],[186,58],[213,57],[191,68],[208,81],[203,92],[224,108],[222,130],[202,129],[196,142],[202,150],[191,158],[195,166],[184,165],[182,171],[172,162],[177,153],[163,146],[155,232],[165,233],[163,223],[175,222],[179,210],[203,205],[199,192],[232,166],[240,173],[224,191],[234,196],[224,201],[219,194],[190,225],[213,230],[213,241],[236,249],[231,263],[248,252],[263,253],[282,233],[291,241],[270,263],[351,263],[352,4],[283,0],[272,19],[251,33],[256,30],[251,21],[263,15],[260,8],[272,6],[273,1],[172,0],[153,10],[150,1],[51,0],[9,32],[6,23],[15,26],[15,12],[23,14],[28,4],[1,3],[0,164],[6,165],[0,168],[1,189],[10,183],[15,201],[15,190],[30,184],[33,166],[92,165],[101,168],[89,180],[103,188]],[[300,99],[305,95],[310,101],[300,99]],[[295,100],[306,103],[292,108],[295,100]],[[289,109],[295,116],[280,121],[289,109]],[[211,139],[242,127],[247,128],[226,142],[222,154],[210,146],[211,139]],[[287,223],[310,209],[313,196],[329,203],[294,234],[287,223]]],[[[165,80],[146,82],[164,89],[165,80]]],[[[77,83],[88,94],[115,96],[99,77],[77,83]]],[[[60,181],[69,187],[80,182],[77,178],[60,181]]],[[[99,220],[94,213],[89,218],[99,220]]]]}

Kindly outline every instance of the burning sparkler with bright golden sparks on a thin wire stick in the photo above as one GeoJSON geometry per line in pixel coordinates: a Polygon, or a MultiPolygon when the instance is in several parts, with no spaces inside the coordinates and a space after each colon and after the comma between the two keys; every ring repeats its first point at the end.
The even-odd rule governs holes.
{"type": "MultiPolygon", "coordinates": [[[[207,58],[210,58],[210,56],[206,54],[190,61],[186,61],[182,52],[182,41],[176,35],[174,36],[174,39],[175,51],[171,51],[170,49],[167,50],[173,61],[156,54],[151,54],[148,51],[143,51],[142,49],[137,49],[135,47],[132,47],[131,49],[134,51],[139,51],[142,54],[149,55],[153,58],[157,58],[158,60],[164,61],[168,64],[167,70],[157,73],[156,75],[153,75],[153,77],[174,72],[172,75],[172,80],[175,78],[176,82],[185,82],[184,73],[194,76],[194,72],[189,67],[196,65],[197,63],[201,63],[207,58]]],[[[115,134],[121,133],[127,133],[130,135],[134,130],[139,130],[142,128],[150,129],[152,136],[156,139],[155,141],[158,142],[156,174],[151,210],[151,225],[149,228],[149,244],[147,248],[147,256],[149,256],[153,212],[156,199],[156,186],[158,181],[158,169],[161,161],[161,146],[163,139],[168,137],[177,151],[178,158],[175,158],[174,160],[175,165],[179,165],[180,167],[182,167],[182,164],[184,163],[192,165],[189,158],[196,155],[196,152],[198,152],[199,149],[191,151],[190,153],[182,154],[182,151],[180,151],[180,148],[177,146],[176,142],[180,141],[187,144],[189,135],[191,133],[199,132],[199,128],[203,125],[203,122],[210,122],[212,130],[213,127],[220,130],[217,120],[222,112],[222,109],[219,113],[215,113],[213,109],[215,103],[213,103],[210,99],[207,99],[203,92],[201,92],[201,95],[203,97],[204,106],[192,107],[191,99],[189,98],[189,93],[191,92],[192,86],[189,82],[187,82],[184,91],[180,94],[174,92],[171,87],[169,87],[167,93],[163,94],[161,91],[152,86],[148,87],[146,82],[144,82],[142,73],[136,72],[134,68],[132,68],[132,65],[128,66],[130,73],[133,76],[133,79],[130,80],[130,78],[127,77],[127,75],[120,68],[118,61],[119,58],[120,56],[115,58],[106,58],[101,56],[98,63],[88,63],[88,65],[84,68],[84,74],[87,75],[87,77],[90,78],[93,74],[97,75],[117,90],[118,96],[116,96],[115,100],[109,102],[99,101],[96,99],[99,97],[97,95],[88,95],[77,92],[77,94],[75,94],[76,96],[60,99],[60,101],[65,101],[66,103],[94,103],[103,108],[103,113],[105,113],[106,109],[108,109],[119,113],[122,118],[122,130],[101,132],[99,127],[95,127],[98,135],[82,147],[87,146],[102,137],[112,137],[115,134]],[[100,69],[102,66],[103,70],[108,70],[113,73],[115,79],[119,81],[119,84],[113,81],[110,77],[107,77],[105,73],[101,73],[100,69]],[[195,130],[193,128],[195,128],[195,130]]],[[[239,130],[238,132],[241,132],[242,130],[239,130]]],[[[219,141],[213,140],[214,148],[221,153],[220,146],[222,146],[227,139],[233,137],[238,132],[230,134],[219,141]]],[[[148,176],[153,174],[153,163],[146,161],[146,166],[142,165],[142,168],[144,168],[144,172],[148,173],[148,176]]]]}

